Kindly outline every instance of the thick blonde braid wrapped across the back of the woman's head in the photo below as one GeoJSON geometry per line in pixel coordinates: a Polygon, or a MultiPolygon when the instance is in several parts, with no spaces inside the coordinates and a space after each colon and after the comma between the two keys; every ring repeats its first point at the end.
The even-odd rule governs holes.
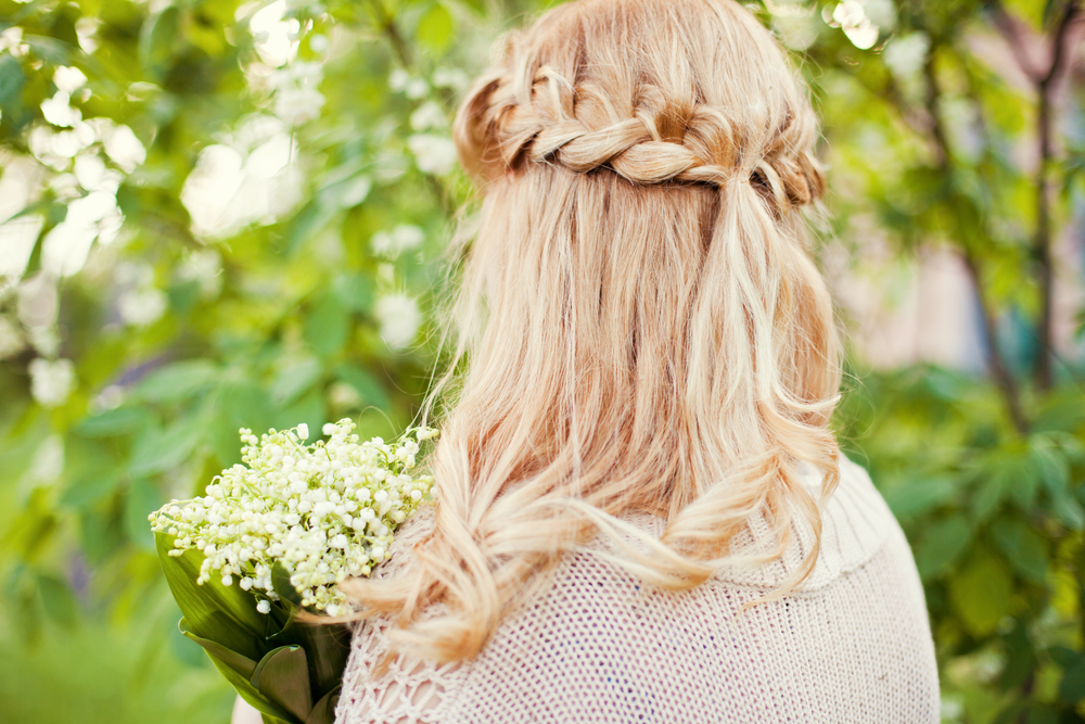
{"type": "Polygon", "coordinates": [[[617,115],[595,84],[574,87],[542,66],[527,98],[518,97],[513,85],[507,73],[483,77],[464,105],[464,116],[475,123],[458,132],[461,157],[484,177],[532,163],[580,173],[607,168],[639,185],[748,182],[778,212],[812,203],[825,191],[805,138],[813,129],[800,128],[791,115],[758,139],[739,138],[739,124],[724,109],[675,104],[658,86],[642,84],[631,116],[592,125],[583,118],[617,115]]]}

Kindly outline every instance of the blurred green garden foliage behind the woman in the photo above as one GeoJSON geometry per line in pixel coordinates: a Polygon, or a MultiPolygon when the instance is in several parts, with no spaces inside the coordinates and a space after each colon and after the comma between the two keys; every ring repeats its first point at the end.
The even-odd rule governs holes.
{"type": "MultiPolygon", "coordinates": [[[[1076,3],[855,4],[876,39],[837,2],[751,5],[795,49],[825,118],[829,232],[853,249],[878,234],[905,259],[958,255],[997,339],[975,372],[853,359],[837,429],[914,546],[945,721],[1081,721],[1085,398],[1080,363],[1044,335],[1044,245],[1083,209],[1082,88],[1072,71],[1037,170],[1014,149],[1041,143],[1043,73],[1031,89],[1010,82],[973,42],[1013,30],[1050,47],[1076,3]],[[910,67],[890,51],[908,38],[910,67]]],[[[231,690],[176,631],[146,515],[235,462],[241,425],[350,416],[363,434],[393,434],[438,361],[441,252],[470,200],[443,167],[441,116],[493,39],[539,3],[292,0],[297,58],[278,74],[261,61],[275,40],[253,22],[261,7],[0,0],[0,181],[16,167],[43,175],[18,212],[42,225],[28,262],[0,283],[0,319],[22,347],[0,360],[4,722],[226,722],[231,690]],[[35,131],[50,127],[58,66],[87,78],[71,96],[82,120],[112,120],[79,153],[120,174],[125,219],[61,276],[47,240],[88,190],[71,154],[48,151],[69,129],[35,131]],[[110,152],[117,125],[145,149],[141,164],[110,152]],[[202,152],[258,161],[271,137],[301,170],[293,196],[227,229],[194,227],[181,199],[202,152]],[[401,225],[421,234],[395,239],[421,243],[374,250],[401,225]],[[407,297],[422,312],[413,334],[407,297]],[[59,404],[31,394],[39,357],[74,363],[59,404]]],[[[0,265],[15,254],[0,247],[0,265]]]]}

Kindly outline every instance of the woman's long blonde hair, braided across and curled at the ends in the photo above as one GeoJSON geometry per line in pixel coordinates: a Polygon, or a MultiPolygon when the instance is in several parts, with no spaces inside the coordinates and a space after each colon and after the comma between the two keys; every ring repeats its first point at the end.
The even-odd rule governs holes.
{"type": "Polygon", "coordinates": [[[485,199],[431,398],[435,530],[406,575],[355,583],[363,615],[394,614],[399,650],[471,658],[600,533],[667,589],[712,575],[752,515],[777,543],[757,560],[794,524],[819,535],[839,343],[801,207],[825,182],[771,36],[731,0],[562,5],[507,38],[455,132],[485,199]]]}

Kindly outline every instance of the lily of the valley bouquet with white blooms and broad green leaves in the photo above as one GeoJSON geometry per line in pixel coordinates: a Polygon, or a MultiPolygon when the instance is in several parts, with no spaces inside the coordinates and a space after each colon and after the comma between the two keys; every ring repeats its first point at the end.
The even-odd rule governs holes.
{"type": "Polygon", "coordinates": [[[244,465],[150,517],[181,633],[269,724],[332,722],[349,631],[299,613],[350,613],[340,584],[369,575],[432,499],[433,479],[411,470],[436,431],[386,444],[354,428],[326,424],[311,445],[304,424],[259,439],[242,429],[244,465]]]}

